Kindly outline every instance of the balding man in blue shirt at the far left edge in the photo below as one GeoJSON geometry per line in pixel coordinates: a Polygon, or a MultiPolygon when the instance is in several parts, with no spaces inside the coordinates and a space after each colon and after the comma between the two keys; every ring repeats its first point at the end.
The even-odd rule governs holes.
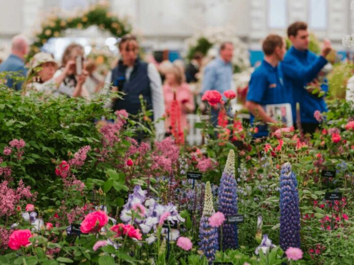
{"type": "MultiPolygon", "coordinates": [[[[24,68],[24,57],[28,53],[27,39],[22,35],[17,35],[12,39],[11,54],[0,65],[1,72],[16,72],[17,76],[26,76],[27,70],[24,68]]],[[[6,85],[11,89],[19,91],[22,82],[15,81],[13,78],[7,77],[6,85]]]]}

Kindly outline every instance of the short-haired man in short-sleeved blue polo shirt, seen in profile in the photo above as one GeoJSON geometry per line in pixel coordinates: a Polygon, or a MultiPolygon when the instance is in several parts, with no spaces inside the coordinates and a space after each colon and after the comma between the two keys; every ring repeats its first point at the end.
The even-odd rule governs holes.
{"type": "MultiPolygon", "coordinates": [[[[263,124],[258,125],[258,133],[255,137],[268,135],[267,123],[278,123],[265,112],[265,105],[268,104],[291,104],[291,88],[286,87],[280,62],[285,54],[285,42],[279,35],[271,34],[262,44],[264,59],[260,66],[251,75],[249,82],[246,107],[251,112],[251,124],[255,120],[263,124]]],[[[276,125],[271,130],[278,129],[276,125]]]]}

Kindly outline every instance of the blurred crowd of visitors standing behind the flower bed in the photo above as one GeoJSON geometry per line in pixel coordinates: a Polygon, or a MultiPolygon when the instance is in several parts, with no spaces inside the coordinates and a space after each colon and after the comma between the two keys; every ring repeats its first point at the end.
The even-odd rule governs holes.
{"type": "MultiPolygon", "coordinates": [[[[301,21],[289,25],[287,35],[292,44],[287,51],[285,40],[279,35],[271,34],[263,40],[264,58],[249,82],[245,106],[251,113],[251,124],[258,128],[255,137],[266,136],[269,131],[289,125],[301,126],[305,133],[313,133],[318,127],[314,112],[327,110],[324,98],[328,84],[320,74],[328,64],[326,56],[332,49],[331,43],[325,40],[319,56],[309,51],[307,24],[301,21]],[[297,103],[300,115],[297,115],[297,103]],[[280,122],[276,119],[277,114],[282,118],[280,122]]],[[[132,115],[141,110],[142,96],[146,108],[153,110],[151,119],[159,121],[155,129],[160,137],[171,133],[173,102],[178,102],[181,126],[188,130],[187,114],[195,110],[196,95],[216,90],[225,97],[224,92],[236,91],[232,80],[231,42],[222,43],[219,56],[206,66],[203,66],[203,54],[199,52],[186,67],[181,60],[164,61],[159,65],[143,62],[139,58],[139,43],[133,35],[121,39],[119,50],[120,60],[105,80],[95,73],[94,62],[84,60],[83,47],[75,43],[65,49],[60,64],[51,54],[39,52],[32,57],[27,70],[24,58],[28,53],[28,41],[23,36],[15,36],[11,55],[0,65],[0,72],[27,76],[23,83],[11,76],[6,79],[7,86],[17,91],[25,90],[26,94],[38,91],[90,99],[96,93],[120,91],[124,96],[112,99],[110,107],[113,111],[125,109],[132,115]],[[190,83],[200,80],[201,89],[192,90],[190,83]],[[163,116],[165,119],[161,121],[163,116]]],[[[215,126],[220,107],[212,108],[215,126]]]]}

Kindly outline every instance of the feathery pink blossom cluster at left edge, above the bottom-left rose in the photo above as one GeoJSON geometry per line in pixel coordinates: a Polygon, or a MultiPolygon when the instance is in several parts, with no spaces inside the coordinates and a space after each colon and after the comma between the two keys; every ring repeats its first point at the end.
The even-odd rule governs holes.
{"type": "Polygon", "coordinates": [[[31,187],[25,187],[22,180],[19,181],[16,190],[9,187],[8,181],[3,181],[0,184],[0,216],[13,215],[21,199],[34,198],[34,196],[31,187]]]}

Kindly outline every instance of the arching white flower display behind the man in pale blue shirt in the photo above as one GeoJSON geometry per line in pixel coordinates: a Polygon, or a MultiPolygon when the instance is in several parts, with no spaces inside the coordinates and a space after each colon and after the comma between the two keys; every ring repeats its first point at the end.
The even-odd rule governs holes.
{"type": "Polygon", "coordinates": [[[200,38],[205,38],[209,42],[213,43],[213,47],[207,54],[210,58],[215,57],[219,53],[218,50],[221,43],[226,41],[232,42],[234,48],[232,65],[237,66],[241,71],[250,67],[247,45],[239,37],[237,37],[237,32],[234,30],[234,27],[225,26],[206,28],[205,31],[197,33],[185,41],[188,49],[197,45],[200,38]]]}

